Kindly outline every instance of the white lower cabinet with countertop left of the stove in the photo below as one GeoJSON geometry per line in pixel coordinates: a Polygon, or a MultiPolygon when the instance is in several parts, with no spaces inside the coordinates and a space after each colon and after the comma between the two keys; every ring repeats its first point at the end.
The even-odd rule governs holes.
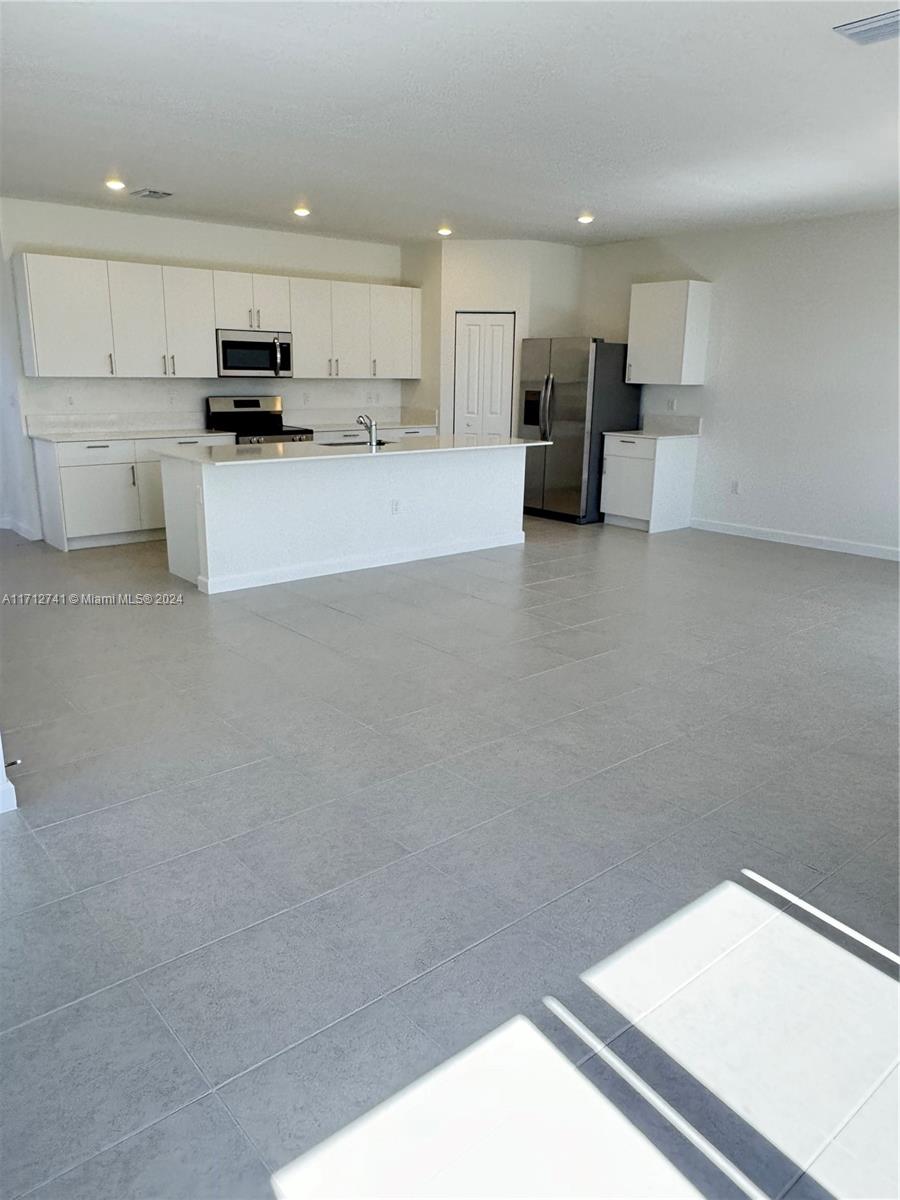
{"type": "Polygon", "coordinates": [[[58,550],[71,550],[78,545],[134,541],[163,529],[160,451],[172,445],[233,442],[227,433],[59,443],[36,438],[44,541],[58,550]]]}

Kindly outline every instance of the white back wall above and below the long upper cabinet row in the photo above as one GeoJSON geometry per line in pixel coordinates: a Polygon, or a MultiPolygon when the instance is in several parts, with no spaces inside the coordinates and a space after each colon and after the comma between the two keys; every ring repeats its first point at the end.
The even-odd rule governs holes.
{"type": "MultiPolygon", "coordinates": [[[[246,380],[25,378],[11,284],[12,253],[32,250],[389,283],[401,278],[401,251],[395,245],[37,200],[0,200],[0,524],[28,536],[40,535],[40,515],[31,446],[23,436],[26,416],[167,412],[173,425],[185,425],[200,419],[211,388],[222,392],[271,388],[246,380]]],[[[400,416],[401,386],[395,380],[286,379],[278,390],[284,395],[287,420],[294,424],[362,408],[383,420],[400,416]]]]}

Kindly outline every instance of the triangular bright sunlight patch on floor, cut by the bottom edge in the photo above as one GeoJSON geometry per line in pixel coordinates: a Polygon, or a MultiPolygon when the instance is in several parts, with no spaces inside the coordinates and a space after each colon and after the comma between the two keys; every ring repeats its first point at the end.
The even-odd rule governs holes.
{"type": "Polygon", "coordinates": [[[700,1196],[516,1016],[272,1176],[311,1196],[700,1196]]]}

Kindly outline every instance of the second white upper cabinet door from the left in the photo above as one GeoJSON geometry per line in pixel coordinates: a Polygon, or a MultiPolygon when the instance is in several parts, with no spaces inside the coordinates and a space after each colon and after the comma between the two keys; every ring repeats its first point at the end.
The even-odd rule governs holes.
{"type": "Polygon", "coordinates": [[[107,263],[107,266],[115,373],[127,379],[168,374],[162,268],[146,263],[107,263]]]}

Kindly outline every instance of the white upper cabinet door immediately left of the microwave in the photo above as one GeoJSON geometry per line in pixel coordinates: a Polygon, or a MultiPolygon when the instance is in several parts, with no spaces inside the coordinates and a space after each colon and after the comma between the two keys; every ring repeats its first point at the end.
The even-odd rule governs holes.
{"type": "Polygon", "coordinates": [[[216,305],[212,271],[193,266],[163,266],[166,340],[169,374],[215,379],[216,305]]]}

